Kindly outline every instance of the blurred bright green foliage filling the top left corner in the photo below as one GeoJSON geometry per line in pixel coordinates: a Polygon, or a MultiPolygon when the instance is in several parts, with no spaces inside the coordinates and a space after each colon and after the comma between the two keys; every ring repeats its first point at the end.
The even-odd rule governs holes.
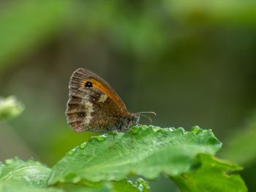
{"type": "Polygon", "coordinates": [[[67,1],[20,1],[5,8],[0,12],[0,69],[13,55],[27,53],[59,30],[67,1]]]}

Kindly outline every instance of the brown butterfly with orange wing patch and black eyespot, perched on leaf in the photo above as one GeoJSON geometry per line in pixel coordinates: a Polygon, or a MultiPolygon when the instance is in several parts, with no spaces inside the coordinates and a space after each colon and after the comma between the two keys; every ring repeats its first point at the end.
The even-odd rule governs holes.
{"type": "Polygon", "coordinates": [[[75,131],[126,131],[138,124],[142,113],[155,115],[129,112],[116,91],[97,74],[81,68],[73,72],[66,115],[75,131]]]}

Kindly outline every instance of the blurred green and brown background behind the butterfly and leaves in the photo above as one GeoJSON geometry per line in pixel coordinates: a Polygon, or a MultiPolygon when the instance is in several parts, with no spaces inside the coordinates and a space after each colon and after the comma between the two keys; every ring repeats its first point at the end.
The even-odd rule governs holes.
{"type": "MultiPolygon", "coordinates": [[[[26,105],[0,124],[0,161],[53,166],[93,133],[64,115],[78,67],[161,127],[211,128],[219,157],[256,191],[256,1],[0,1],[0,96],[26,105]]],[[[140,123],[148,123],[143,119],[140,123]]],[[[177,191],[165,177],[152,191],[177,191]]]]}

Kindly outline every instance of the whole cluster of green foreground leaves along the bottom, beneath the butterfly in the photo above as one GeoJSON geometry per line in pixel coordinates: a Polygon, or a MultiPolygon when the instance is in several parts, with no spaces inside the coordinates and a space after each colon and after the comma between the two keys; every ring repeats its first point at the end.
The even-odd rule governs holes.
{"type": "Polygon", "coordinates": [[[164,173],[181,191],[246,191],[241,177],[233,174],[241,167],[212,156],[220,147],[210,130],[197,126],[191,131],[133,126],[125,133],[91,137],[89,142],[69,151],[52,170],[37,161],[8,159],[0,167],[0,188],[1,191],[15,191],[17,186],[22,186],[21,191],[27,188],[27,191],[34,188],[35,191],[148,191],[146,181],[139,179],[132,183],[126,178],[135,174],[152,180],[164,173]],[[65,187],[67,183],[75,185],[65,187]]]}

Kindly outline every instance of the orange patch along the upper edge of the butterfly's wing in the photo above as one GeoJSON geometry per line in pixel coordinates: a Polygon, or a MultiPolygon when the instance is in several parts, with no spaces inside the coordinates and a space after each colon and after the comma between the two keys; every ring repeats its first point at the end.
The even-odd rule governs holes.
{"type": "Polygon", "coordinates": [[[92,83],[92,86],[94,88],[97,88],[99,91],[102,91],[103,93],[105,93],[107,96],[109,96],[111,99],[113,99],[113,101],[116,101],[116,103],[122,107],[123,111],[127,111],[127,107],[125,107],[123,101],[121,101],[121,99],[119,98],[119,96],[117,96],[115,93],[113,93],[110,88],[108,88],[108,86],[103,85],[101,82],[95,80],[94,78],[90,78],[87,80],[83,81],[83,85],[85,85],[85,83],[89,81],[92,83]]]}

